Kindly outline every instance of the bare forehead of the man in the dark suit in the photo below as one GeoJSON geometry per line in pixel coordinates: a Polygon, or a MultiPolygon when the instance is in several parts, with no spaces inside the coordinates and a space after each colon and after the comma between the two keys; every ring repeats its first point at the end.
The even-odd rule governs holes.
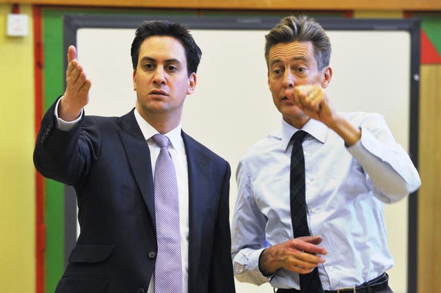
{"type": "Polygon", "coordinates": [[[172,36],[149,36],[139,48],[139,59],[148,56],[154,59],[176,59],[185,62],[185,49],[172,36]]]}

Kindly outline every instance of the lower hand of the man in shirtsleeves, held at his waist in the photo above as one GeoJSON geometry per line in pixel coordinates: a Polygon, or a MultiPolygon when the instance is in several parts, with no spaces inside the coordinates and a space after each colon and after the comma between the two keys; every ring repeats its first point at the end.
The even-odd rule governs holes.
{"type": "Polygon", "coordinates": [[[266,248],[260,254],[259,268],[265,275],[273,274],[279,268],[300,274],[312,272],[325,262],[320,255],[326,255],[327,250],[318,246],[321,242],[320,236],[307,236],[266,248]]]}

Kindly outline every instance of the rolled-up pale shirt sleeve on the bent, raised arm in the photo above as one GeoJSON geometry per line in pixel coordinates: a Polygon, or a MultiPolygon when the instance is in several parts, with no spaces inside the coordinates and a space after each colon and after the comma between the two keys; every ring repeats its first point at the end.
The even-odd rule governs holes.
{"type": "Polygon", "coordinates": [[[392,203],[416,191],[421,180],[418,171],[400,144],[396,143],[384,118],[369,116],[360,124],[361,138],[347,150],[367,173],[373,194],[392,203]]]}

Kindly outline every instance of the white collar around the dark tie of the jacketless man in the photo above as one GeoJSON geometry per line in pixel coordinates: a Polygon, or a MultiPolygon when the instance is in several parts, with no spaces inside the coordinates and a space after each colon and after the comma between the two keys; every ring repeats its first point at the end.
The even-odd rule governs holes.
{"type": "MultiPolygon", "coordinates": [[[[296,129],[296,127],[288,124],[285,120],[282,119],[283,149],[286,150],[288,148],[289,140],[291,140],[292,135],[294,135],[294,133],[296,133],[296,131],[298,130],[300,129],[296,129]]],[[[314,138],[316,138],[316,140],[322,143],[326,142],[327,126],[318,120],[312,118],[309,119],[301,130],[309,133],[309,135],[313,136],[314,138]]]]}

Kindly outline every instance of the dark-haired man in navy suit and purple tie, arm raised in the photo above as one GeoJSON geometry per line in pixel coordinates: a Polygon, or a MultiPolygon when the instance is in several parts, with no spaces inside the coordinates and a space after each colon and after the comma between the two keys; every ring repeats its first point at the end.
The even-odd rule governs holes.
{"type": "Polygon", "coordinates": [[[57,292],[234,292],[229,164],[181,130],[201,50],[185,25],[149,21],[136,30],[131,52],[135,109],[119,118],[84,116],[91,82],[70,46],[65,93],[41,122],[34,164],[74,186],[81,226],[57,292]],[[168,141],[165,173],[173,180],[164,182],[175,182],[176,199],[157,195],[158,133],[168,141]],[[169,219],[178,230],[161,235],[169,219]],[[176,235],[181,253],[171,244],[176,235]]]}

